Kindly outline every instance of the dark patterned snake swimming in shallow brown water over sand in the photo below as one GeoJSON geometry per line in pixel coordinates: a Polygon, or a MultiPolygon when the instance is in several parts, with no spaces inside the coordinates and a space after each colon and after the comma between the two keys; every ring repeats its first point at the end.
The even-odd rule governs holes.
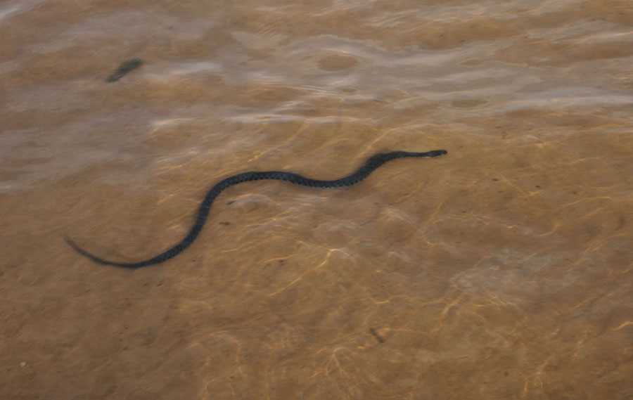
{"type": "Polygon", "coordinates": [[[196,219],[193,223],[193,226],[191,226],[186,236],[182,240],[180,240],[179,243],[176,243],[169,249],[154,257],[139,262],[109,261],[107,259],[98,257],[91,252],[88,252],[87,250],[84,250],[82,247],[79,247],[79,245],[77,245],[77,243],[75,243],[75,241],[73,241],[72,239],[68,238],[68,236],[65,237],[65,241],[77,253],[81,254],[84,257],[87,257],[96,264],[116,266],[124,269],[139,269],[144,266],[161,264],[176,257],[187,247],[189,247],[196,240],[196,238],[198,238],[198,235],[200,235],[200,232],[202,231],[203,226],[205,226],[205,222],[209,217],[211,205],[220,193],[222,193],[227,188],[230,188],[231,186],[249,181],[275,180],[286,181],[295,185],[308,186],[311,188],[343,188],[345,186],[356,185],[360,181],[364,180],[367,176],[369,176],[369,174],[371,174],[378,167],[381,167],[381,165],[385,164],[385,162],[407,157],[439,157],[440,155],[445,155],[447,153],[447,150],[431,150],[424,153],[409,151],[391,151],[388,153],[378,153],[369,157],[369,159],[366,160],[366,162],[362,164],[362,166],[359,167],[356,172],[353,172],[352,174],[349,174],[347,176],[343,176],[343,178],[333,179],[329,181],[310,179],[300,174],[295,174],[294,172],[285,171],[251,171],[229,176],[228,178],[222,179],[222,181],[216,183],[214,186],[212,186],[212,188],[209,189],[209,191],[207,191],[205,198],[202,202],[200,202],[200,206],[198,207],[198,214],[196,214],[196,219]]]}

